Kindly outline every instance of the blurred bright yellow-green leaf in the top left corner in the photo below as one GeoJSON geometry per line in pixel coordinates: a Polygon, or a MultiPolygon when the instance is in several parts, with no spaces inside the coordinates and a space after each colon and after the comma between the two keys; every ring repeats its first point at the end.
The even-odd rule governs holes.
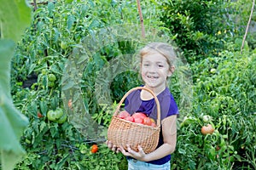
{"type": "Polygon", "coordinates": [[[17,42],[30,25],[31,10],[25,0],[0,0],[0,4],[1,38],[17,42]]]}

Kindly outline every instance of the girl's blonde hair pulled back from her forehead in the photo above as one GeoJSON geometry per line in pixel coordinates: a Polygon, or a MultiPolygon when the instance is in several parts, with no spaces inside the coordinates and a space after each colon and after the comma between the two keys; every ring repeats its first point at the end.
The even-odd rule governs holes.
{"type": "Polygon", "coordinates": [[[175,53],[172,45],[165,42],[150,42],[144,48],[140,50],[141,62],[143,61],[143,56],[152,53],[162,54],[169,65],[170,70],[175,65],[177,59],[177,54],[175,53]]]}

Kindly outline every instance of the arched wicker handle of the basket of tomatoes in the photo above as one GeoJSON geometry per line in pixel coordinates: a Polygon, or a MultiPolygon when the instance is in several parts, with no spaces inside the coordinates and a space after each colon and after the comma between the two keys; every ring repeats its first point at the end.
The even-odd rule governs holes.
{"type": "Polygon", "coordinates": [[[150,94],[153,95],[154,101],[155,101],[155,104],[156,104],[156,109],[157,109],[156,125],[157,125],[157,126],[160,126],[160,103],[159,103],[159,100],[157,99],[156,95],[154,94],[154,92],[153,92],[152,90],[150,90],[150,89],[148,89],[148,88],[144,88],[144,87],[131,88],[131,89],[123,96],[123,98],[119,101],[119,105],[117,106],[116,110],[114,111],[113,116],[117,116],[117,115],[118,115],[120,106],[121,106],[122,103],[125,101],[125,98],[126,98],[129,94],[131,94],[131,92],[133,92],[133,91],[135,91],[135,90],[138,90],[138,89],[146,90],[146,91],[148,91],[150,94]]]}

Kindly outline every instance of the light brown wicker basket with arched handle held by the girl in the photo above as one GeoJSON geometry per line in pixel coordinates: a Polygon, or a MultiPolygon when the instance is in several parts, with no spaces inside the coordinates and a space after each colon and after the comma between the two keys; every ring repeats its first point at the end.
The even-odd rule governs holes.
{"type": "Polygon", "coordinates": [[[160,135],[160,104],[157,97],[154,93],[143,87],[131,88],[124,97],[120,100],[119,105],[116,108],[116,111],[113,113],[112,120],[108,127],[108,140],[113,144],[116,144],[117,147],[123,146],[127,150],[127,144],[130,145],[132,150],[137,150],[137,146],[141,145],[145,153],[150,153],[155,150],[160,135]],[[157,120],[156,127],[150,127],[147,125],[129,122],[125,119],[119,118],[120,106],[124,102],[125,98],[131,94],[132,91],[137,89],[147,90],[150,94],[154,96],[154,100],[157,106],[157,120]]]}

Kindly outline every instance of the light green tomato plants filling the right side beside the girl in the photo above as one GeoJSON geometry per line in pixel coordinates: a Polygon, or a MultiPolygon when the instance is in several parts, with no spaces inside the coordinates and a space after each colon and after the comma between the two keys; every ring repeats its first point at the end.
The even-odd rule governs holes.
{"type": "Polygon", "coordinates": [[[229,50],[191,66],[193,111],[179,124],[173,169],[255,168],[255,64],[255,52],[229,50]],[[205,136],[207,123],[215,132],[205,136]]]}

